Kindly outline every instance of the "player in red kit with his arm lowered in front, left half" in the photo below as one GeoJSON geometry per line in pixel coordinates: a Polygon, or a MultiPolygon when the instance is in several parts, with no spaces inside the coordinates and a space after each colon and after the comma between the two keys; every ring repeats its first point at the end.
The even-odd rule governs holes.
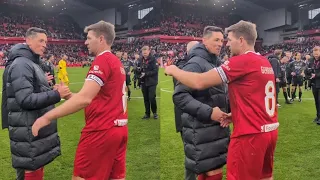
{"type": "Polygon", "coordinates": [[[115,38],[114,26],[100,21],[85,28],[85,44],[96,56],[80,92],[64,104],[36,120],[32,132],[52,119],[85,108],[82,130],[74,161],[73,180],[122,180],[128,139],[125,70],[110,52],[115,38]]]}

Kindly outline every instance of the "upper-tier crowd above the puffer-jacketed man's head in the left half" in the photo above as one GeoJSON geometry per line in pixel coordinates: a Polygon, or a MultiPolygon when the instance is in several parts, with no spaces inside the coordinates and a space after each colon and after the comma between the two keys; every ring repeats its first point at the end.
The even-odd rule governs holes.
{"type": "Polygon", "coordinates": [[[84,39],[82,29],[66,16],[29,16],[19,13],[0,13],[0,37],[24,37],[28,28],[40,27],[54,39],[84,39]]]}

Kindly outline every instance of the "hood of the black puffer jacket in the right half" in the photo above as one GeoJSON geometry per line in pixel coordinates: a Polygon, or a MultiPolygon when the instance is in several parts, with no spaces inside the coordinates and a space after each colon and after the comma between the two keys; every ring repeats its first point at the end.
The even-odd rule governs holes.
{"type": "Polygon", "coordinates": [[[220,65],[218,57],[215,54],[210,53],[202,43],[196,44],[190,49],[188,59],[191,59],[195,56],[201,57],[208,62],[215,64],[216,66],[220,65]]]}

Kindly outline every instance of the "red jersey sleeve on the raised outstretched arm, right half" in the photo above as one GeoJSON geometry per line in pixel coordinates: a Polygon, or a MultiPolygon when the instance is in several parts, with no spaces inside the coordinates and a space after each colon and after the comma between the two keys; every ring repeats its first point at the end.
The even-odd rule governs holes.
{"type": "Polygon", "coordinates": [[[220,67],[217,67],[216,70],[223,82],[230,83],[246,75],[249,72],[248,68],[246,59],[232,57],[220,67]]]}

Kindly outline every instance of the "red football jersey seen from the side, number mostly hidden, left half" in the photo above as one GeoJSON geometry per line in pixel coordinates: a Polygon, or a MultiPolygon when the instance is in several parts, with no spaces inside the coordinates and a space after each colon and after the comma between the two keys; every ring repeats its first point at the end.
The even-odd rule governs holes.
{"type": "Polygon", "coordinates": [[[86,80],[97,82],[101,90],[85,108],[83,131],[107,130],[115,126],[115,120],[128,119],[125,70],[115,55],[110,51],[99,54],[86,80]]]}

